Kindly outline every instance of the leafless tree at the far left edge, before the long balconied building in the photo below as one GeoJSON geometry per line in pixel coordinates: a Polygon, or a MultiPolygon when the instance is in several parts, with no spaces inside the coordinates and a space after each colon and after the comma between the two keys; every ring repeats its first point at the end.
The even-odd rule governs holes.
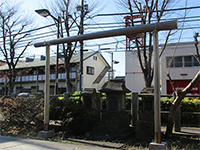
{"type": "Polygon", "coordinates": [[[9,79],[9,94],[14,90],[17,74],[16,65],[31,43],[27,42],[22,49],[17,48],[21,40],[28,36],[28,33],[24,32],[29,25],[27,20],[20,14],[19,5],[10,6],[8,3],[0,3],[0,52],[4,56],[9,68],[7,74],[9,79]]]}

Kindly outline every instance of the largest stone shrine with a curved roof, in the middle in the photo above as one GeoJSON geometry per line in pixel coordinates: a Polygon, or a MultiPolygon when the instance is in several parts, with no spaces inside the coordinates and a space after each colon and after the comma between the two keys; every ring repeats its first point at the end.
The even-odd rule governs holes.
{"type": "Polygon", "coordinates": [[[100,92],[106,94],[106,110],[102,113],[100,124],[94,132],[101,133],[104,140],[127,137],[131,132],[125,99],[130,90],[125,87],[124,80],[110,80],[103,85],[100,92]]]}

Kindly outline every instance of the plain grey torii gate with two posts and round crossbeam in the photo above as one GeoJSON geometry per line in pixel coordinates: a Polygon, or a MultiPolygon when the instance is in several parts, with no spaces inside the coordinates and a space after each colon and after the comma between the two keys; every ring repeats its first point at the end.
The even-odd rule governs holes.
{"type": "Polygon", "coordinates": [[[45,102],[44,102],[44,131],[49,131],[49,86],[50,86],[50,45],[69,43],[82,40],[91,40],[105,37],[139,34],[153,32],[153,51],[154,51],[154,132],[155,143],[161,143],[161,113],[160,113],[160,61],[158,31],[177,29],[178,23],[175,21],[157,22],[136,27],[121,28],[90,34],[82,34],[61,39],[53,39],[35,43],[35,47],[46,46],[46,65],[45,65],[45,102]]]}

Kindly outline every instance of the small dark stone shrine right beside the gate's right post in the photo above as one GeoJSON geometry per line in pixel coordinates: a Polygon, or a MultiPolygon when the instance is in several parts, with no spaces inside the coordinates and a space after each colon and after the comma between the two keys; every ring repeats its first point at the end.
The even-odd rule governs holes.
{"type": "Polygon", "coordinates": [[[144,88],[141,97],[139,120],[136,121],[135,136],[139,139],[151,139],[154,136],[154,88],[144,88]]]}

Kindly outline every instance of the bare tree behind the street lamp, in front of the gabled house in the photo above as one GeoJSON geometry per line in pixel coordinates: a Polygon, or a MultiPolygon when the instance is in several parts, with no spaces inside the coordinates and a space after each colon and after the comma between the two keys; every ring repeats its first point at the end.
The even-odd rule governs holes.
{"type": "MultiPolygon", "coordinates": [[[[89,17],[90,13],[97,8],[98,3],[92,3],[90,6],[87,7],[87,5],[80,6],[81,9],[85,9],[82,16],[80,16],[80,13],[78,10],[76,10],[76,7],[78,6],[78,2],[80,1],[70,1],[70,0],[57,0],[50,4],[52,7],[50,9],[52,12],[57,14],[57,16],[61,17],[61,37],[70,37],[71,35],[79,35],[81,31],[81,25],[79,24],[80,18],[86,20],[89,17]]],[[[70,81],[70,60],[71,57],[76,50],[78,45],[78,42],[70,42],[63,44],[62,46],[62,52],[64,54],[65,58],[65,73],[66,73],[66,91],[68,93],[71,93],[72,84],[70,81]]]]}

